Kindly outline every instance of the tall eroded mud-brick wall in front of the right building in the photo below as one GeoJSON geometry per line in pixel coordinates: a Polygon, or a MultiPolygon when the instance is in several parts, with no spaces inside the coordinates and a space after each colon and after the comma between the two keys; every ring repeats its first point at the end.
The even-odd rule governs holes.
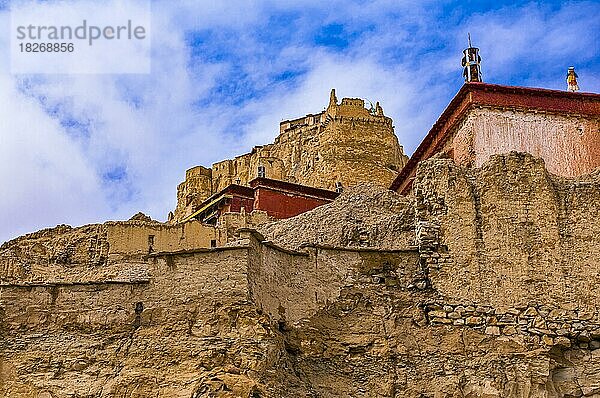
{"type": "Polygon", "coordinates": [[[563,179],[548,174],[543,160],[516,152],[495,155],[481,169],[437,159],[421,164],[415,196],[429,281],[462,307],[460,317],[437,314],[445,323],[479,305],[499,315],[470,311],[471,322],[492,333],[506,326],[550,342],[581,336],[585,345],[599,333],[597,172],[563,179]]]}

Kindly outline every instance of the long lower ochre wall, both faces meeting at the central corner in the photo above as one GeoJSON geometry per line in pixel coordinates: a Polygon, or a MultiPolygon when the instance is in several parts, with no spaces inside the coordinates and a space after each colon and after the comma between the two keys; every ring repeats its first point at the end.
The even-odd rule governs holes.
{"type": "MultiPolygon", "coordinates": [[[[135,231],[131,228],[118,225],[109,236],[116,233],[126,239],[127,231],[135,231]]],[[[243,246],[143,256],[135,251],[135,255],[94,273],[88,272],[87,264],[71,264],[68,278],[56,273],[41,279],[38,274],[29,280],[2,283],[3,328],[124,332],[183,322],[185,312],[192,311],[185,303],[193,303],[194,311],[205,303],[202,311],[210,312],[212,302],[228,305],[246,300],[272,319],[293,324],[337,300],[342,289],[354,281],[406,288],[418,271],[416,250],[311,245],[292,251],[263,241],[252,230],[245,231],[245,240],[240,241],[243,246]],[[386,279],[390,272],[395,275],[393,281],[386,279]]],[[[132,242],[135,244],[135,239],[132,242]]]]}

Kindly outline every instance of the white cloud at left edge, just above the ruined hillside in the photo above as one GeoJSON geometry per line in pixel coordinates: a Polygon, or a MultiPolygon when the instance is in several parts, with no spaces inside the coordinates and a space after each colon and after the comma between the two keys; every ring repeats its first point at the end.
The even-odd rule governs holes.
{"type": "Polygon", "coordinates": [[[93,165],[57,121],[7,75],[0,75],[0,93],[0,240],[105,214],[93,165]]]}

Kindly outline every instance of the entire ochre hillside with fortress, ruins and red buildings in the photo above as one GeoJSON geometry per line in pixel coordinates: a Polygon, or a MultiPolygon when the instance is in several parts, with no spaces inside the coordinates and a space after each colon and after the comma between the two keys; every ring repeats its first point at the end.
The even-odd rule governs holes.
{"type": "Polygon", "coordinates": [[[332,92],[168,223],[5,243],[0,396],[600,397],[600,95],[469,84],[409,163],[332,92]]]}

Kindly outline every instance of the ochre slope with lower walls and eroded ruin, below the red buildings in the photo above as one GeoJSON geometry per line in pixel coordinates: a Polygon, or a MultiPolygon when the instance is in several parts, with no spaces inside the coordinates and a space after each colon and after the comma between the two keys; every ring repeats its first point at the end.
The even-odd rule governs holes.
{"type": "Polygon", "coordinates": [[[599,203],[530,155],[432,159],[268,239],[38,266],[0,285],[0,395],[598,397],[599,203]]]}

